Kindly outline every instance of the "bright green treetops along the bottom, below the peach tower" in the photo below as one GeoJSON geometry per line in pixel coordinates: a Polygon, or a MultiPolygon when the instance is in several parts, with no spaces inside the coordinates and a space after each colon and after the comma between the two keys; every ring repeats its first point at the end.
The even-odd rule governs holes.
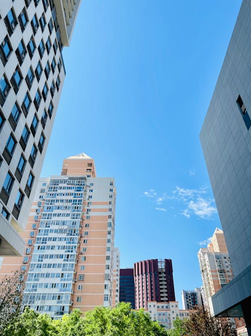
{"type": "Polygon", "coordinates": [[[39,314],[26,307],[18,319],[12,321],[3,335],[6,336],[166,336],[167,331],[152,321],[143,309],[135,311],[130,303],[116,308],[96,307],[85,313],[79,309],[65,314],[60,320],[39,314]]]}

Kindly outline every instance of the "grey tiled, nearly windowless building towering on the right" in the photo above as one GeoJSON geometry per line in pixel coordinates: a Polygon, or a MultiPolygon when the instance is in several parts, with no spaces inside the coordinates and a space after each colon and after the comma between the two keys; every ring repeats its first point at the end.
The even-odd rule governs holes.
{"type": "Polygon", "coordinates": [[[201,145],[234,279],[217,316],[243,316],[251,335],[251,0],[243,0],[202,130],[201,145]]]}

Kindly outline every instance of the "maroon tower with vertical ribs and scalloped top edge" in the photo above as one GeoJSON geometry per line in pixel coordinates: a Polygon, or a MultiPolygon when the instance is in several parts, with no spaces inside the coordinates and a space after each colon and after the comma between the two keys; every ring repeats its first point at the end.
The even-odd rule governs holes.
{"type": "Polygon", "coordinates": [[[135,308],[147,309],[148,301],[175,301],[171,259],[151,259],[134,264],[135,308]]]}

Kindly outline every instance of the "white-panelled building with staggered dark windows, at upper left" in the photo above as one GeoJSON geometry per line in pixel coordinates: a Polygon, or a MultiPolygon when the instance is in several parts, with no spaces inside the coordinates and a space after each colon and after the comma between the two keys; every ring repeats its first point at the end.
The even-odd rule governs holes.
{"type": "Polygon", "coordinates": [[[0,2],[0,254],[20,255],[80,0],[0,2]]]}

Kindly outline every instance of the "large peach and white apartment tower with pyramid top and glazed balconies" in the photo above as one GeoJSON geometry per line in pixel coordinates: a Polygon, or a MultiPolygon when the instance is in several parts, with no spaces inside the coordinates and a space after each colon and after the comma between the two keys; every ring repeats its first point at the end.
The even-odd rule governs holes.
{"type": "Polygon", "coordinates": [[[64,160],[62,175],[40,179],[24,256],[5,257],[0,270],[26,272],[24,305],[53,318],[112,306],[115,197],[114,179],[96,177],[83,153],[64,160]]]}

